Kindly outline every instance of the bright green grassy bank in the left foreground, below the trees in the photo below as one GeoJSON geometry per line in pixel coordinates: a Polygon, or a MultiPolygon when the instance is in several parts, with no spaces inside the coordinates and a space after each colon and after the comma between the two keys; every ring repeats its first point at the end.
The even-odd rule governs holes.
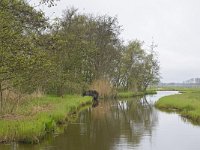
{"type": "Polygon", "coordinates": [[[91,103],[91,97],[68,95],[45,96],[23,103],[15,115],[0,119],[0,142],[39,142],[48,132],[70,119],[70,114],[91,103]]]}

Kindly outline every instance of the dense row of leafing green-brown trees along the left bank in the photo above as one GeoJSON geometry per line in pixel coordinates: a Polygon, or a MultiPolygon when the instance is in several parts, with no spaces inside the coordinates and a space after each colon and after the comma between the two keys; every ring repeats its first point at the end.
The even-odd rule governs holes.
{"type": "Polygon", "coordinates": [[[116,17],[71,8],[53,23],[24,0],[0,1],[0,98],[5,91],[38,89],[62,96],[97,80],[145,91],[159,79],[153,51],[140,41],[125,45],[116,17]]]}

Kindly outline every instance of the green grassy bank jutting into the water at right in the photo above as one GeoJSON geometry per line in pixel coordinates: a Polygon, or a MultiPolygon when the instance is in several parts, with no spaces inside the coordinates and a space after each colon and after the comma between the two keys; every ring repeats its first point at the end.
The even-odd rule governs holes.
{"type": "Polygon", "coordinates": [[[161,110],[177,111],[195,123],[200,123],[200,90],[187,89],[182,94],[161,98],[155,106],[161,110]]]}

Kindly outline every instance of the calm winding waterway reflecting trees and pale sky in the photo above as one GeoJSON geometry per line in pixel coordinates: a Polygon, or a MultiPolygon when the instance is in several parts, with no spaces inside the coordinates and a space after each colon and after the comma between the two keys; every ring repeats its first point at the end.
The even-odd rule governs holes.
{"type": "Polygon", "coordinates": [[[200,128],[185,123],[176,114],[160,112],[155,96],[101,101],[96,108],[79,114],[65,133],[50,136],[39,145],[0,145],[0,149],[20,150],[163,150],[199,148],[200,128]],[[191,140],[187,147],[188,137],[191,140]],[[186,148],[185,148],[186,147],[186,148]]]}

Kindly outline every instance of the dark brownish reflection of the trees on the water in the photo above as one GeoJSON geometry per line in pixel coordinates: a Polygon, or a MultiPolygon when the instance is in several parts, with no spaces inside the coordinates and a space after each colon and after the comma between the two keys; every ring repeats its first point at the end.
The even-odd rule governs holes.
{"type": "Polygon", "coordinates": [[[151,135],[157,122],[152,106],[139,100],[105,101],[82,112],[77,123],[55,139],[57,149],[67,145],[68,149],[109,150],[123,143],[137,145],[143,134],[151,135]]]}

